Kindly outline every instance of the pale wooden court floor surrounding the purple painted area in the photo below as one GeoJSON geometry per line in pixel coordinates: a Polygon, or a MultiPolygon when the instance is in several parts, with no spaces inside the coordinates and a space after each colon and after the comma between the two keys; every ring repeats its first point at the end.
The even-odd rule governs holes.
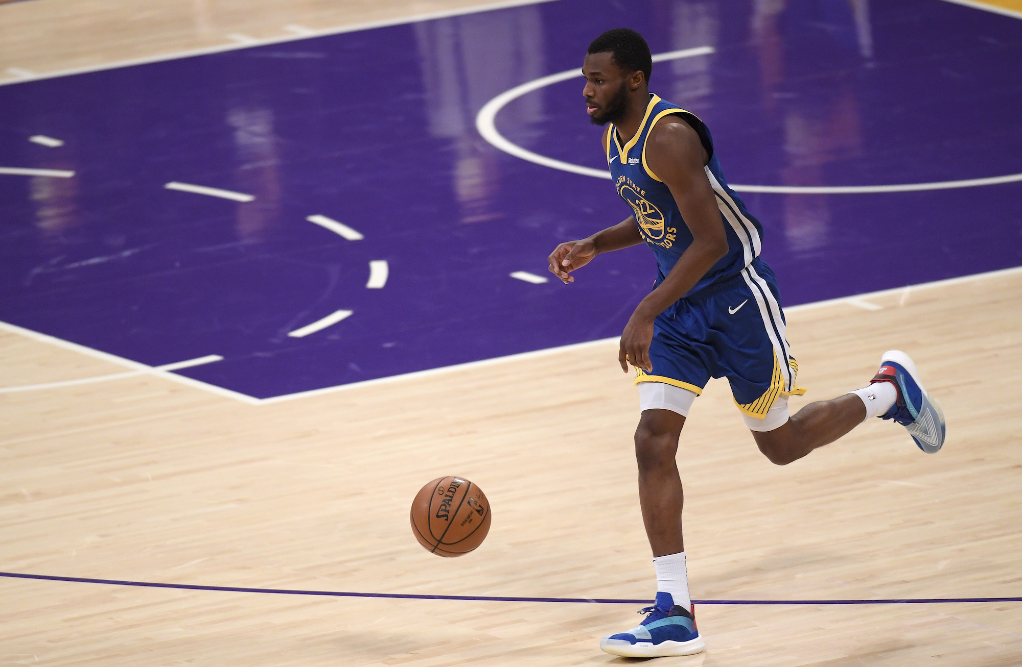
{"type": "MultiPolygon", "coordinates": [[[[127,4],[2,6],[0,17],[13,11],[28,22],[0,21],[0,64],[18,49],[11,31],[43,30],[41,14],[33,19],[38,8],[60,6],[99,25],[102,11],[127,4]]],[[[155,40],[173,48],[195,48],[181,35],[197,39],[192,14],[203,7],[237,17],[217,18],[218,36],[242,25],[258,33],[245,21],[260,12],[239,4],[135,4],[193,21],[155,40]]],[[[363,14],[343,18],[399,16],[399,4],[407,5],[350,3],[363,14]]],[[[413,4],[419,13],[458,3],[413,4]]],[[[260,9],[277,12],[273,25],[305,24],[337,6],[260,9]]],[[[332,16],[308,27],[325,29],[332,16]]],[[[17,66],[55,71],[140,57],[144,31],[160,25],[117,23],[107,28],[122,31],[118,44],[106,39],[99,49],[88,43],[104,35],[99,29],[68,29],[60,34],[79,42],[52,57],[26,47],[17,66]]],[[[679,456],[697,600],[1022,595],[1022,272],[869,303],[880,309],[839,302],[789,313],[800,383],[809,388],[794,407],[862,386],[881,352],[900,348],[944,406],[944,450],[926,456],[903,429],[874,420],[776,467],[743,428],[727,383],[712,381],[679,456]]],[[[631,445],[638,401],[615,366],[615,346],[602,343],[260,406],[152,375],[0,394],[0,569],[267,588],[647,598],[654,581],[631,445]],[[430,556],[408,525],[415,492],[444,474],[481,484],[495,514],[486,542],[461,559],[430,556]]],[[[6,329],[0,368],[3,387],[124,370],[6,329]]],[[[639,618],[635,605],[9,578],[0,578],[0,665],[624,664],[635,661],[597,643],[639,618]]],[[[1017,602],[701,605],[697,615],[706,653],[657,664],[1022,664],[1017,602]]]]}

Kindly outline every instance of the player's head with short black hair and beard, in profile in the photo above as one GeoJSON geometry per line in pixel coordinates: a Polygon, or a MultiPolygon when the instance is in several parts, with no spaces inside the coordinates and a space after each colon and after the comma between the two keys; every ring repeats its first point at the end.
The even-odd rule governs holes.
{"type": "Polygon", "coordinates": [[[603,125],[624,117],[630,95],[646,95],[653,59],[642,35],[615,28],[589,45],[582,70],[590,119],[603,125]]]}

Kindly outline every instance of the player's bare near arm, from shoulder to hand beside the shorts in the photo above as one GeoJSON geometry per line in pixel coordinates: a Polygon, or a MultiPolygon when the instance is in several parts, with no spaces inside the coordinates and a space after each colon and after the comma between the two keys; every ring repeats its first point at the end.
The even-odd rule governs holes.
{"type": "Polygon", "coordinates": [[[707,159],[699,135],[681,118],[663,118],[646,141],[646,163],[670,190],[693,241],[663,283],[640,302],[624,326],[618,361],[625,372],[629,361],[652,372],[649,346],[653,341],[654,318],[728,254],[728,235],[713,188],[703,169],[707,159]]]}

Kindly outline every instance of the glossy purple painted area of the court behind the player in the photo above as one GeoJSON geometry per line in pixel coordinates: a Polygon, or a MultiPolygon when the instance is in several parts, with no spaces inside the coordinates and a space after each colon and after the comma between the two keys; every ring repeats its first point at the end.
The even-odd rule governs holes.
{"type": "MultiPolygon", "coordinates": [[[[954,187],[1022,174],[1022,22],[936,0],[764,7],[560,0],[0,87],[0,166],[74,171],[0,173],[0,320],[153,366],[220,355],[177,372],[256,398],[616,336],[655,275],[645,248],[570,287],[510,274],[545,275],[557,243],[628,207],[475,119],[619,25],[654,53],[711,47],[651,89],[708,123],[733,184],[926,184],[743,193],[785,305],[1022,264],[1022,182],[954,187]]],[[[605,166],[580,79],[495,124],[605,166]]]]}

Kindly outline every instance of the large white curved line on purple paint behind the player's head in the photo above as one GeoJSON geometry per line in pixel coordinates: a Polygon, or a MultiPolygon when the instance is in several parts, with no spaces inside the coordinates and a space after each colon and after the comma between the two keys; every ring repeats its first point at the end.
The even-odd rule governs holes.
{"type": "MultiPolygon", "coordinates": [[[[693,56],[709,55],[713,53],[713,48],[702,46],[694,49],[683,49],[681,51],[668,51],[657,53],[653,56],[653,62],[664,60],[677,60],[679,58],[691,58],[693,56]]],[[[593,167],[571,164],[562,160],[555,160],[546,155],[533,153],[517,144],[508,141],[504,135],[497,130],[497,114],[512,100],[516,100],[522,95],[532,91],[551,86],[553,84],[568,81],[582,76],[578,69],[568,69],[541,76],[530,82],[515,86],[511,90],[505,91],[486,102],[479,113],[475,116],[475,130],[495,148],[513,155],[522,160],[539,164],[541,166],[559,169],[569,173],[577,173],[594,178],[610,179],[610,171],[606,169],[595,169],[593,167]]],[[[886,186],[740,186],[731,184],[729,187],[735,192],[766,193],[776,195],[854,195],[874,193],[894,193],[894,192],[920,192],[926,190],[953,190],[956,188],[977,188],[980,186],[995,186],[1004,183],[1022,182],[1022,173],[1013,173],[1003,176],[989,176],[983,178],[968,178],[965,181],[941,181],[934,183],[907,183],[886,186]]]]}

